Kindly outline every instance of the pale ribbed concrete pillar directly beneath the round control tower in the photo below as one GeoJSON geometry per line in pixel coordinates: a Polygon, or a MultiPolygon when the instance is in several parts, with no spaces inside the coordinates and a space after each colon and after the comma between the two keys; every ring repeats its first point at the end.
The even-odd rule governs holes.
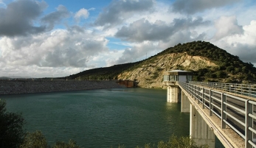
{"type": "Polygon", "coordinates": [[[178,86],[168,86],[167,102],[172,102],[172,103],[181,102],[181,88],[179,88],[178,86]]]}

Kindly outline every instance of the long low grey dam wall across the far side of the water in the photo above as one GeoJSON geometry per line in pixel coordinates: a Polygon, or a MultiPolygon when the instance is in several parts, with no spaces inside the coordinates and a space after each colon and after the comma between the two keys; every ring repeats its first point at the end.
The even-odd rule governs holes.
{"type": "Polygon", "coordinates": [[[0,80],[0,94],[29,94],[124,87],[118,85],[115,80],[0,80]]]}

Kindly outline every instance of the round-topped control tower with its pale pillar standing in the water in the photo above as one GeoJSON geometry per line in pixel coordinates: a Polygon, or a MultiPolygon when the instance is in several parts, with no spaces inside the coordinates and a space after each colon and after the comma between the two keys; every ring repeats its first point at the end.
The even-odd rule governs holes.
{"type": "Polygon", "coordinates": [[[167,85],[167,102],[181,102],[181,88],[177,82],[192,81],[193,73],[190,71],[165,71],[163,74],[163,85],[167,85]]]}

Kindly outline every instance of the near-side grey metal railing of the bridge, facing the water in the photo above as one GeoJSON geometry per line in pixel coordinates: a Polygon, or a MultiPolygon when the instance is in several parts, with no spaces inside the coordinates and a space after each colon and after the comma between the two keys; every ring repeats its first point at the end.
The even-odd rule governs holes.
{"type": "Polygon", "coordinates": [[[256,134],[255,101],[204,88],[204,85],[179,82],[179,86],[196,102],[201,103],[203,109],[208,108],[209,116],[218,116],[222,129],[226,129],[228,125],[244,139],[246,148],[256,147],[253,142],[256,134]]]}

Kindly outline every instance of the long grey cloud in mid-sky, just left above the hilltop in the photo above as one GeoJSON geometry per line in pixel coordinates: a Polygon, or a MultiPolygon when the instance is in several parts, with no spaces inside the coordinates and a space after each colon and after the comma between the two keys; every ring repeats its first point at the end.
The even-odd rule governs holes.
{"type": "Polygon", "coordinates": [[[142,18],[128,27],[122,27],[118,30],[115,37],[123,40],[142,42],[144,40],[170,40],[170,36],[184,29],[190,30],[195,27],[205,26],[210,24],[210,21],[204,21],[203,18],[176,18],[171,24],[166,24],[165,21],[156,21],[150,23],[142,18]]]}

